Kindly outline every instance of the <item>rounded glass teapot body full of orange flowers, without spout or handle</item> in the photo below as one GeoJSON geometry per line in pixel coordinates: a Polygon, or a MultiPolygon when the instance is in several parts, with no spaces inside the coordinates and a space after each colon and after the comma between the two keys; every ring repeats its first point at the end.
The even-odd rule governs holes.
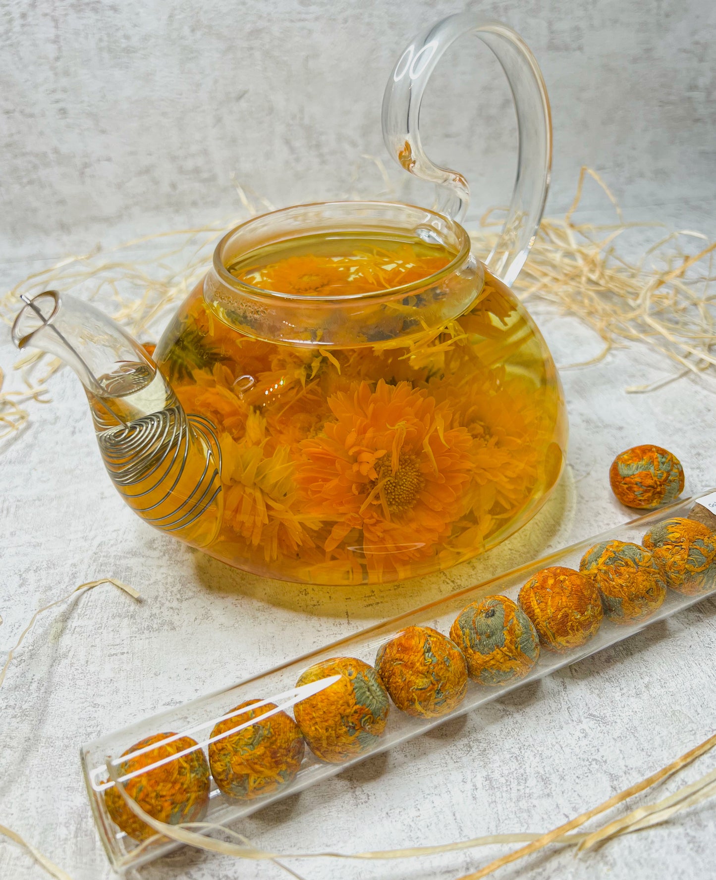
{"type": "Polygon", "coordinates": [[[218,440],[203,549],[264,576],[448,568],[525,524],[562,470],[541,334],[461,225],[428,209],[328,202],[242,224],[154,357],[218,440]]]}

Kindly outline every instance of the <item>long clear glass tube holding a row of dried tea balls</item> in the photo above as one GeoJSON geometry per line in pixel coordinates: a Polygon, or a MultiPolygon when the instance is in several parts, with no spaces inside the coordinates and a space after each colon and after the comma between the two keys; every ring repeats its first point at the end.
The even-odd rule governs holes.
{"type": "MultiPolygon", "coordinates": [[[[92,802],[92,811],[100,831],[100,837],[107,849],[107,855],[114,869],[124,871],[129,868],[136,868],[145,862],[150,862],[159,855],[166,854],[174,847],[179,846],[179,844],[173,840],[164,839],[149,845],[144,844],[144,847],[139,848],[136,840],[130,838],[117,825],[114,825],[113,819],[107,810],[105,799],[105,792],[113,785],[112,782],[107,781],[107,756],[112,757],[114,766],[122,768],[122,762],[117,760],[119,756],[128,749],[135,749],[135,752],[137,752],[136,744],[145,737],[154,737],[161,734],[165,737],[164,742],[171,744],[172,740],[176,741],[176,737],[184,736],[192,737],[196,742],[196,745],[191,747],[190,751],[201,752],[201,760],[203,765],[206,766],[203,754],[207,749],[207,745],[211,742],[216,742],[218,739],[217,734],[214,732],[215,725],[218,722],[226,722],[231,718],[237,719],[236,728],[232,728],[231,723],[228,725],[233,732],[233,730],[239,730],[241,724],[244,725],[244,728],[252,723],[255,724],[257,720],[261,720],[262,715],[264,717],[269,717],[272,713],[275,715],[276,708],[283,710],[287,715],[291,715],[292,713],[296,714],[296,708],[299,707],[302,700],[309,698],[320,700],[321,689],[330,686],[336,680],[335,677],[323,679],[319,677],[308,686],[303,684],[297,686],[299,678],[307,669],[313,667],[314,664],[319,664],[330,658],[350,657],[354,658],[355,661],[362,661],[363,664],[373,666],[376,663],[376,654],[380,647],[405,627],[432,627],[438,630],[439,633],[447,635],[456,616],[470,603],[496,595],[506,596],[517,601],[522,585],[540,569],[553,566],[579,569],[579,561],[586,554],[587,550],[602,541],[620,540],[640,544],[646,532],[653,530],[655,526],[667,519],[671,517],[690,517],[694,503],[695,499],[690,498],[649,513],[644,517],[638,517],[638,519],[619,525],[609,532],[595,535],[592,538],[580,541],[578,544],[566,547],[557,553],[530,562],[528,565],[515,568],[505,575],[492,578],[467,590],[461,590],[430,605],[424,605],[424,607],[418,608],[415,611],[402,614],[393,620],[369,627],[358,634],[351,635],[339,642],[334,642],[326,648],[301,656],[261,675],[248,678],[236,686],[216,693],[210,693],[179,708],[172,708],[159,715],[133,723],[123,730],[117,730],[107,737],[102,737],[85,745],[82,749],[82,764],[87,790],[92,802]],[[242,713],[245,713],[246,709],[238,711],[236,709],[246,700],[261,701],[254,706],[256,712],[251,722],[242,720],[242,713]],[[262,709],[262,705],[265,705],[267,702],[272,703],[274,708],[267,707],[262,709]],[[171,731],[171,733],[168,731],[171,731]]],[[[705,505],[716,509],[716,494],[710,495],[710,502],[705,501],[705,505]]],[[[699,508],[698,510],[704,511],[704,508],[699,508]]],[[[706,517],[710,516],[707,510],[704,512],[706,517]]],[[[298,772],[292,781],[280,785],[269,794],[244,799],[230,798],[222,794],[215,781],[207,780],[208,801],[205,810],[205,820],[224,825],[233,823],[235,820],[255,812],[255,810],[261,810],[262,807],[269,803],[295,794],[303,788],[328,778],[328,776],[340,773],[346,766],[351,766],[370,755],[392,748],[411,737],[416,737],[418,734],[430,730],[432,727],[447,721],[447,719],[455,715],[461,715],[464,712],[478,708],[516,687],[526,685],[528,682],[542,678],[545,675],[550,675],[551,672],[565,665],[573,664],[583,657],[607,648],[615,642],[620,642],[649,624],[662,620],[688,605],[698,602],[700,599],[705,598],[705,596],[712,595],[712,593],[716,592],[716,583],[714,581],[716,581],[716,562],[713,562],[711,568],[708,569],[705,581],[700,585],[697,595],[683,595],[681,592],[669,589],[663,604],[650,617],[633,623],[616,624],[605,616],[596,634],[579,649],[572,649],[565,653],[551,653],[543,649],[532,670],[523,678],[514,678],[501,686],[482,686],[471,681],[467,687],[464,699],[447,714],[439,717],[415,717],[400,711],[391,703],[384,730],[382,732],[378,731],[374,736],[365,737],[362,751],[343,761],[330,763],[318,759],[306,747],[305,757],[300,762],[298,772]]],[[[289,723],[292,722],[289,721],[289,723]]],[[[125,777],[129,780],[130,774],[126,770],[122,772],[125,773],[125,777]]],[[[120,776],[120,780],[125,777],[120,776]]]]}

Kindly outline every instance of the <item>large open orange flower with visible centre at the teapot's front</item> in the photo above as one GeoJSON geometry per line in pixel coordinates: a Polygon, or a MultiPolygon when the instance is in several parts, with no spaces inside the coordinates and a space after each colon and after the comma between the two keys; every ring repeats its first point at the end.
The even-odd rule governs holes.
{"type": "Polygon", "coordinates": [[[328,400],[335,421],[300,444],[296,482],[306,510],[334,526],[330,554],[344,539],[372,576],[402,576],[411,559],[435,553],[463,509],[473,440],[452,414],[408,382],[375,390],[366,382],[328,400]],[[355,535],[351,537],[351,532],[355,535]]]}

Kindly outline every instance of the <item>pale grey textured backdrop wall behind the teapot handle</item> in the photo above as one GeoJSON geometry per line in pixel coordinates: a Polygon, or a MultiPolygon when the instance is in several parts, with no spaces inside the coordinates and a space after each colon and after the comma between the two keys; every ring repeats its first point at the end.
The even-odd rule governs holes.
{"type": "MultiPolygon", "coordinates": [[[[711,0],[467,5],[515,27],[542,66],[553,209],[571,201],[582,163],[627,207],[716,200],[711,0]]],[[[384,156],[380,102],[399,51],[459,8],[4,0],[0,241],[62,233],[83,243],[118,223],[213,219],[236,203],[232,172],[277,206],[349,191],[360,154],[384,156]]],[[[468,174],[476,208],[505,202],[513,175],[501,76],[479,40],[463,41],[424,105],[426,147],[468,174]]],[[[373,193],[380,179],[364,171],[358,188],[373,193]]]]}

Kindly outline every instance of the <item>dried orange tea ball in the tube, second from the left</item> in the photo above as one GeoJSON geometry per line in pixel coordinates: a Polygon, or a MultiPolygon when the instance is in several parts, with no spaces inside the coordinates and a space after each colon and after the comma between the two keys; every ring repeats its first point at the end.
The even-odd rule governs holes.
{"type": "Polygon", "coordinates": [[[247,700],[228,714],[232,717],[211,731],[214,742],[209,744],[211,775],[224,794],[250,799],[269,795],[292,781],[305,751],[299,725],[292,717],[261,700],[247,700]],[[261,705],[249,708],[256,703],[261,705]],[[247,724],[253,719],[253,724],[247,724]]]}

